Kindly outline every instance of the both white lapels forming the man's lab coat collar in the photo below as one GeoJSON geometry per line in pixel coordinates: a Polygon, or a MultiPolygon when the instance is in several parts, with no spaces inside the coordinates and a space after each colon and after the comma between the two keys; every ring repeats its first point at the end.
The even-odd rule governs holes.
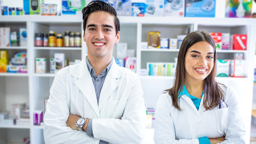
{"type": "Polygon", "coordinates": [[[102,86],[102,91],[100,92],[100,100],[98,107],[97,97],[92,82],[92,76],[88,71],[85,58],[83,58],[83,60],[80,63],[71,67],[70,75],[74,76],[75,78],[78,78],[78,80],[75,81],[75,85],[79,88],[80,91],[82,91],[83,95],[87,98],[88,102],[97,114],[98,118],[100,118],[99,111],[104,105],[105,101],[107,101],[111,93],[119,85],[119,81],[117,81],[117,78],[120,78],[123,75],[123,71],[122,68],[117,66],[116,63],[112,63],[109,73],[107,73],[107,76],[105,78],[104,85],[102,86]]]}

